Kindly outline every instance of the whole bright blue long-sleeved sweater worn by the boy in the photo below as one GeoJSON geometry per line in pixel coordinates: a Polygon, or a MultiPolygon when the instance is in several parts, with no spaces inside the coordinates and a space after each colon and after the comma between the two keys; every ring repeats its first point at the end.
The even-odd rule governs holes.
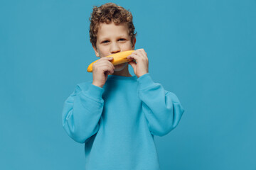
{"type": "Polygon", "coordinates": [[[87,81],[65,100],[63,128],[85,143],[87,170],[157,170],[154,135],[176,128],[184,109],[175,94],[142,77],[109,75],[103,88],[87,81]]]}

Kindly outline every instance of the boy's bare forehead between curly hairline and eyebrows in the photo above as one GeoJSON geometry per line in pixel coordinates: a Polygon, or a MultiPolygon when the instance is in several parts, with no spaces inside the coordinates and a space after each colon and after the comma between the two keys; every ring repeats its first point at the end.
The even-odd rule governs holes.
{"type": "Polygon", "coordinates": [[[100,23],[97,38],[114,38],[120,36],[129,36],[127,24],[120,23],[118,25],[111,23],[100,23]]]}

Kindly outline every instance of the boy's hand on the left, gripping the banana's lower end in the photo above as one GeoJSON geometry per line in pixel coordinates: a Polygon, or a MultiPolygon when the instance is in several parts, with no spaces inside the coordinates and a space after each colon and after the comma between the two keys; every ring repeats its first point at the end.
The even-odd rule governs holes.
{"type": "Polygon", "coordinates": [[[108,74],[114,73],[114,65],[112,62],[113,57],[102,57],[92,65],[92,84],[95,86],[103,87],[107,81],[108,74]]]}

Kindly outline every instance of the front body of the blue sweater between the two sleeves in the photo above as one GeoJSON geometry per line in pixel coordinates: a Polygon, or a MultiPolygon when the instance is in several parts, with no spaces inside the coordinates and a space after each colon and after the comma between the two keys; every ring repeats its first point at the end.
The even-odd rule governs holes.
{"type": "Polygon", "coordinates": [[[137,80],[110,79],[103,88],[104,108],[99,130],[85,143],[87,167],[157,169],[154,137],[142,110],[137,80]]]}

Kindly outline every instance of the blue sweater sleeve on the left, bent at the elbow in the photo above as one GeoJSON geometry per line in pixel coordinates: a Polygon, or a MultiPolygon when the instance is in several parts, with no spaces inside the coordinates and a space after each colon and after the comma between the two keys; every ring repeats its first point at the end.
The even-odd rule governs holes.
{"type": "Polygon", "coordinates": [[[105,90],[90,83],[75,86],[75,91],[65,100],[62,112],[63,128],[76,142],[84,143],[99,129],[104,106],[105,90]]]}

